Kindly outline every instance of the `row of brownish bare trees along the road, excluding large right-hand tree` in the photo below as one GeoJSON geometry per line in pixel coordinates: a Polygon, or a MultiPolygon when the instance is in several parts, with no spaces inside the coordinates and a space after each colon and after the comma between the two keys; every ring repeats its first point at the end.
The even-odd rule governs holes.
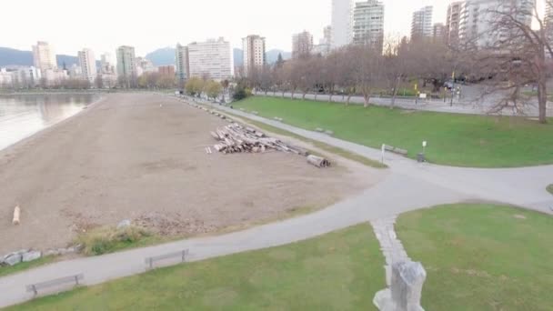
{"type": "Polygon", "coordinates": [[[263,92],[363,95],[369,105],[374,94],[386,93],[392,102],[402,85],[432,85],[433,92],[456,70],[456,53],[432,41],[388,41],[385,53],[369,45],[348,45],[331,54],[311,55],[252,70],[247,84],[263,92]]]}

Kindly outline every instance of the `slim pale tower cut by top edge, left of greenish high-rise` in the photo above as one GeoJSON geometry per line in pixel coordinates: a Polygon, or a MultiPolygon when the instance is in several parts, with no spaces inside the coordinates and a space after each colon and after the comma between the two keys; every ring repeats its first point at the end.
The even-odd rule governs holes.
{"type": "Polygon", "coordinates": [[[353,40],[353,0],[332,0],[330,46],[335,49],[353,40]]]}

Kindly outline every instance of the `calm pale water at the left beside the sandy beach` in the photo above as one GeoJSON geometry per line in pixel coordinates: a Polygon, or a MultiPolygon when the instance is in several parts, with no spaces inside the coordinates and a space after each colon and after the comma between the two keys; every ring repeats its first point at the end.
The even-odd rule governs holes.
{"type": "Polygon", "coordinates": [[[0,150],[83,110],[98,95],[0,95],[0,150]]]}

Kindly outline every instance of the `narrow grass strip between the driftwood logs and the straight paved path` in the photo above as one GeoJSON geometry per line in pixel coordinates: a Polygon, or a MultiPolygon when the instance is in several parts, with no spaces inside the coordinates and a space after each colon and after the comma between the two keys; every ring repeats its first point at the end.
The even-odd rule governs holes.
{"type": "MultiPolygon", "coordinates": [[[[228,114],[228,115],[235,115],[235,114],[232,114],[232,113],[228,113],[226,111],[223,112],[223,113],[228,114]]],[[[254,125],[254,126],[256,126],[256,127],[260,128],[262,130],[265,130],[267,132],[271,132],[271,133],[274,133],[274,134],[277,134],[277,135],[283,135],[283,136],[296,138],[297,140],[301,140],[301,141],[303,141],[307,144],[314,145],[314,146],[316,146],[317,148],[319,148],[321,150],[327,151],[328,153],[331,153],[331,154],[334,154],[334,155],[337,155],[337,156],[345,157],[349,160],[356,161],[356,162],[358,162],[362,165],[370,166],[370,167],[374,167],[374,168],[387,168],[388,167],[387,165],[385,165],[381,162],[370,159],[366,156],[361,156],[361,155],[358,155],[356,153],[349,152],[346,149],[342,149],[342,148],[339,148],[339,147],[336,147],[336,146],[333,146],[333,145],[328,145],[328,144],[325,144],[325,143],[321,143],[317,140],[310,139],[310,138],[304,137],[302,135],[297,135],[297,134],[294,134],[292,132],[288,132],[287,130],[283,130],[281,128],[278,128],[278,127],[275,127],[275,126],[272,126],[272,125],[266,125],[265,123],[257,122],[257,121],[252,120],[252,119],[248,119],[248,118],[246,118],[242,115],[236,115],[236,116],[241,118],[241,119],[244,119],[246,121],[246,123],[248,123],[250,125],[254,125]]],[[[321,156],[321,155],[318,155],[317,152],[309,151],[309,153],[311,155],[314,155],[314,156],[321,156]]]]}

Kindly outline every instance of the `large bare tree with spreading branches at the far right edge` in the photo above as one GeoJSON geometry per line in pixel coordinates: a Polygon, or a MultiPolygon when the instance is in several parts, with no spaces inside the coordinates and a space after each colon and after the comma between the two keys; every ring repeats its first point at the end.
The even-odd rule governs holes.
{"type": "MultiPolygon", "coordinates": [[[[553,1],[547,0],[547,5],[553,7],[553,1]]],[[[524,114],[528,101],[520,90],[523,85],[537,85],[539,122],[547,123],[546,54],[553,56],[553,50],[548,40],[546,18],[538,14],[535,5],[528,8],[515,2],[506,2],[489,10],[488,18],[493,28],[487,35],[494,40],[478,49],[475,67],[479,72],[493,76],[484,95],[501,96],[490,112],[510,108],[524,114]],[[536,21],[537,28],[532,28],[532,20],[536,21]]]]}

